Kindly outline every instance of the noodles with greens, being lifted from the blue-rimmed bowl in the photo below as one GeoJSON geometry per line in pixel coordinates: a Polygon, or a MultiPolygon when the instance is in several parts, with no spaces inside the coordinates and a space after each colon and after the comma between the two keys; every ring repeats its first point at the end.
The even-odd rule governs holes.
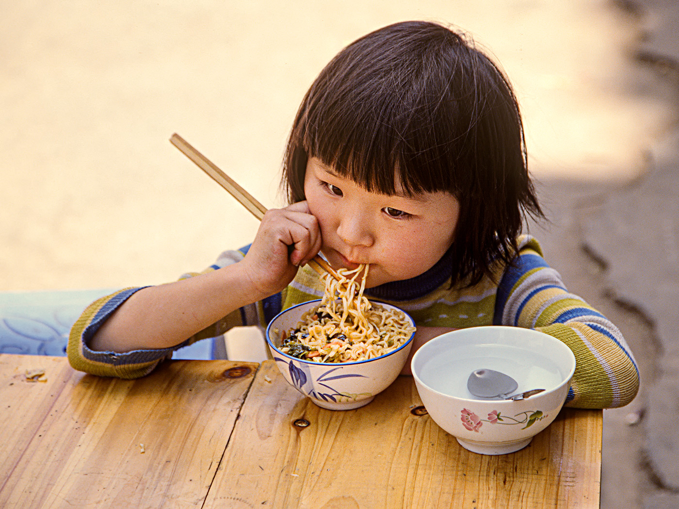
{"type": "Polygon", "coordinates": [[[313,362],[352,362],[403,346],[415,327],[400,309],[387,309],[363,296],[368,266],[340,268],[337,273],[339,281],[325,276],[320,304],[306,311],[295,328],[282,332],[280,351],[313,362]]]}

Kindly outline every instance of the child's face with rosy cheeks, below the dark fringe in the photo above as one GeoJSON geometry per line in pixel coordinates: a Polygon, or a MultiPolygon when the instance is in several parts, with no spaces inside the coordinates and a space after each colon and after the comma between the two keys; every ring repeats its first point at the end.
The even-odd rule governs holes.
{"type": "Polygon", "coordinates": [[[370,264],[367,287],[424,273],[453,242],[460,207],[452,194],[369,192],[316,158],[306,165],[304,192],[321,251],[334,268],[370,264]]]}

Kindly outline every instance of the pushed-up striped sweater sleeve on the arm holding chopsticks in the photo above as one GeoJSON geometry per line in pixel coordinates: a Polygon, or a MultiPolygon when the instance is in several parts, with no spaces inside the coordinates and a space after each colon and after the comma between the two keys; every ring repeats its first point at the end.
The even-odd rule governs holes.
{"type": "MultiPolygon", "coordinates": [[[[202,273],[242,260],[247,248],[239,251],[224,251],[217,262],[202,273]]],[[[187,273],[180,279],[186,279],[202,273],[187,273]]],[[[109,296],[100,298],[90,304],[75,321],[69,334],[67,355],[73,368],[98,376],[116,376],[123,379],[134,379],[149,374],[163,360],[172,357],[172,353],[198,340],[213,338],[223,334],[230,328],[246,325],[261,325],[261,303],[254,303],[240,308],[223,319],[213,323],[195,336],[187,338],[179,345],[166,349],[134,350],[126,353],[94,351],[88,346],[89,340],[103,323],[130,296],[143,287],[121,289],[109,296]]]]}

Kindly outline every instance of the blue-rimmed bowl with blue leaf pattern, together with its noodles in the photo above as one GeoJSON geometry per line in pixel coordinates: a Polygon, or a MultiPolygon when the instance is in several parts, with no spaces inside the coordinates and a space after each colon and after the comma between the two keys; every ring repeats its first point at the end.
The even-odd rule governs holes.
{"type": "Polygon", "coordinates": [[[363,296],[356,271],[338,272],[342,280],[327,281],[323,299],[276,315],[266,340],[297,391],[322,408],[351,410],[371,402],[399,376],[415,323],[405,311],[363,296]]]}

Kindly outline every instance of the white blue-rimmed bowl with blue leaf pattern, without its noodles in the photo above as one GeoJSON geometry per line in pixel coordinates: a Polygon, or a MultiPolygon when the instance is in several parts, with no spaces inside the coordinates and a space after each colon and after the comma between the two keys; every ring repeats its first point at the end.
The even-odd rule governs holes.
{"type": "MultiPolygon", "coordinates": [[[[319,303],[320,299],[302,302],[278,313],[266,328],[266,341],[276,366],[288,383],[315,404],[330,410],[359,408],[371,402],[399,376],[410,353],[414,334],[398,349],[363,361],[312,362],[280,351],[280,332],[297,327],[302,313],[319,303]]],[[[382,302],[378,304],[387,309],[398,309],[382,302]]],[[[405,317],[414,325],[407,313],[405,317]]]]}

